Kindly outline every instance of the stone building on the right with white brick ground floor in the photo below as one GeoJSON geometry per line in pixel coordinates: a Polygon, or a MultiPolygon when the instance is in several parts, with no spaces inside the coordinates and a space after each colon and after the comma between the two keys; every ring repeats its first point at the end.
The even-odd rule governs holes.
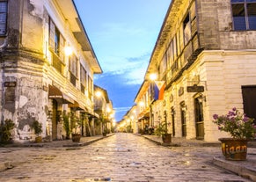
{"type": "Polygon", "coordinates": [[[226,134],[213,114],[237,107],[256,118],[255,10],[256,0],[172,0],[145,74],[165,82],[164,99],[150,100],[152,126],[214,142],[226,134]]]}

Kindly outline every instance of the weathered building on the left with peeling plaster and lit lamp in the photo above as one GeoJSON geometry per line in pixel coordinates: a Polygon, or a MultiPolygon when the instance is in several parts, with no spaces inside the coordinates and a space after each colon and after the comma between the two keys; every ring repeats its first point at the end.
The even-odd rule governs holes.
{"type": "Polygon", "coordinates": [[[33,140],[33,120],[53,140],[63,113],[92,120],[102,70],[72,0],[0,0],[0,61],[1,120],[15,122],[15,141],[33,140]]]}

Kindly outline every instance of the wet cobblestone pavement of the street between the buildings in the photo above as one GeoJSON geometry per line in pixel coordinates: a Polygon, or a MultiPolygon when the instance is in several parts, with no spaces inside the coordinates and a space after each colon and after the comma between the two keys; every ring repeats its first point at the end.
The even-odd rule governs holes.
{"type": "Polygon", "coordinates": [[[116,134],[74,148],[0,148],[1,182],[249,181],[211,164],[217,147],[163,147],[132,134],[116,134]]]}

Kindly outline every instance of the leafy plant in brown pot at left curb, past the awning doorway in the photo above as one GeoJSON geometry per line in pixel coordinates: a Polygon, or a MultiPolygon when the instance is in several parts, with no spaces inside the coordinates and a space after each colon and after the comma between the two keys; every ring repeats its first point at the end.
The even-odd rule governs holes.
{"type": "Polygon", "coordinates": [[[70,127],[72,129],[72,141],[73,142],[80,142],[80,139],[82,137],[81,133],[80,133],[80,127],[82,125],[82,121],[79,120],[77,118],[77,116],[75,116],[74,113],[71,113],[71,117],[70,117],[70,127]]]}

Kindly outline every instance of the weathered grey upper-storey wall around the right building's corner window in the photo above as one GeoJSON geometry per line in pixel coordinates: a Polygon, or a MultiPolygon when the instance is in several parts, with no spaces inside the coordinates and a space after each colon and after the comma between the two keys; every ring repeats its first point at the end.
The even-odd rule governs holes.
{"type": "Polygon", "coordinates": [[[205,49],[255,49],[255,31],[233,31],[230,0],[197,0],[201,47],[205,49]]]}

